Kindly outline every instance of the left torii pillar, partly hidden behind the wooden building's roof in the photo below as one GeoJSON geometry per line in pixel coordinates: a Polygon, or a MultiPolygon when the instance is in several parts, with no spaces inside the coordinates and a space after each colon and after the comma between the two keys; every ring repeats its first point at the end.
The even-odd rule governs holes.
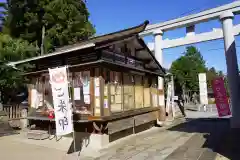
{"type": "MultiPolygon", "coordinates": [[[[160,65],[163,65],[163,52],[162,52],[162,44],[163,44],[163,32],[161,30],[157,30],[154,32],[154,54],[160,65]]],[[[164,99],[164,79],[162,77],[158,77],[158,105],[160,107],[160,115],[159,115],[159,123],[163,123],[166,119],[166,109],[165,109],[165,99],[164,99]]]]}

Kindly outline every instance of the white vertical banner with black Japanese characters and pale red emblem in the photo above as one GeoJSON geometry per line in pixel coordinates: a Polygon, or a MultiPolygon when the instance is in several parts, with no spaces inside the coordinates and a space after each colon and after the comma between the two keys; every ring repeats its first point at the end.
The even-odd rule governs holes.
{"type": "Polygon", "coordinates": [[[56,135],[73,132],[72,109],[69,103],[67,67],[49,69],[55,113],[56,135]]]}

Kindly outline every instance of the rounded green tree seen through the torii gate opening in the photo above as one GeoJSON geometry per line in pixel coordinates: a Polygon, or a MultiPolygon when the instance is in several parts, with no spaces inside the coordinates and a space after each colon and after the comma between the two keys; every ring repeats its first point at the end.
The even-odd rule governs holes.
{"type": "Polygon", "coordinates": [[[205,61],[201,53],[193,46],[187,47],[184,55],[175,60],[170,68],[174,75],[176,92],[199,90],[198,74],[206,72],[205,61]]]}

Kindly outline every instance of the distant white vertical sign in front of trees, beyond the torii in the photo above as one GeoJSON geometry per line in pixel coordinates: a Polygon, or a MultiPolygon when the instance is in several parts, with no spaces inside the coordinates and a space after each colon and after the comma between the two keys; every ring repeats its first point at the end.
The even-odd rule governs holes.
{"type": "Polygon", "coordinates": [[[200,89],[200,103],[208,104],[206,73],[199,73],[198,78],[199,78],[199,89],[200,89]]]}

